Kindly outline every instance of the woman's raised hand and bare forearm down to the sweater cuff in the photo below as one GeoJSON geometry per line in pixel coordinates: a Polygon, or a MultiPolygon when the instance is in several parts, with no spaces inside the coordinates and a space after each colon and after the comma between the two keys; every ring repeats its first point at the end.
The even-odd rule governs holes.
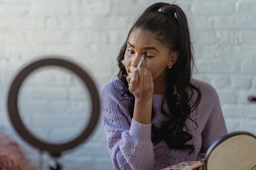
{"type": "Polygon", "coordinates": [[[127,76],[129,90],[135,97],[133,119],[141,124],[151,123],[154,83],[152,74],[146,68],[135,68],[132,76],[127,76]]]}

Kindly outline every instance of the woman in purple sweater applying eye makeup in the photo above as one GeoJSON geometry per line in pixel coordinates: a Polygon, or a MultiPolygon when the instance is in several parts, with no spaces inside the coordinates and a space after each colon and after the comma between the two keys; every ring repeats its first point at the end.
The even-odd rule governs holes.
{"type": "Polygon", "coordinates": [[[117,61],[118,79],[101,90],[115,169],[161,169],[199,160],[226,134],[215,89],[191,79],[190,36],[180,7],[148,7],[131,28],[117,61]]]}

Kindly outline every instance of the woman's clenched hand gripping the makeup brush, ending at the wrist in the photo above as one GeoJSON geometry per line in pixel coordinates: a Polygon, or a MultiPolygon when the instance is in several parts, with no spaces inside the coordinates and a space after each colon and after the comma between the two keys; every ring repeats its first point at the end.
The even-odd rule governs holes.
{"type": "Polygon", "coordinates": [[[151,72],[143,67],[134,68],[132,74],[126,77],[129,91],[134,95],[135,100],[152,100],[154,83],[151,72]]]}

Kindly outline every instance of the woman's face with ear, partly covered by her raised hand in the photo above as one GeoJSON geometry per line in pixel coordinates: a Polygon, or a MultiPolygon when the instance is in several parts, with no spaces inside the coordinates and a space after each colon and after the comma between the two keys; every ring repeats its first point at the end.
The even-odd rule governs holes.
{"type": "Polygon", "coordinates": [[[153,81],[165,79],[167,67],[173,66],[179,54],[170,52],[167,45],[157,40],[150,31],[135,29],[130,34],[124,53],[124,66],[128,75],[137,67],[143,53],[146,53],[147,57],[141,67],[151,71],[153,81]]]}

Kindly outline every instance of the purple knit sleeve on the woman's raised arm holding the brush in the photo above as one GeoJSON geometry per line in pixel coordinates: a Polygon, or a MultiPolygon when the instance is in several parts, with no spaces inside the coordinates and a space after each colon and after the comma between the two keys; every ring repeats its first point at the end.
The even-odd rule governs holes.
{"type": "Polygon", "coordinates": [[[116,92],[101,90],[101,115],[108,150],[115,169],[152,169],[155,158],[151,141],[151,124],[131,119],[127,105],[119,105],[116,92]]]}

